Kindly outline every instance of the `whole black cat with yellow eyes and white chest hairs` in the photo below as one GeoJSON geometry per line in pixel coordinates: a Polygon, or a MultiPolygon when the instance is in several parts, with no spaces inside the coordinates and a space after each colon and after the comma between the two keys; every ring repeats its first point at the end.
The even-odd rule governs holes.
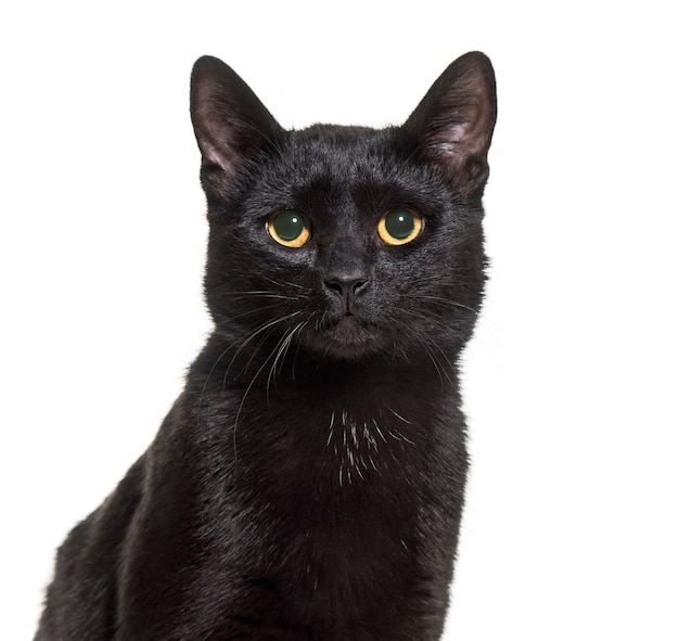
{"type": "Polygon", "coordinates": [[[215,329],[59,550],[36,640],[439,639],[492,67],[460,57],[401,127],[286,131],[203,57],[191,113],[215,329]]]}

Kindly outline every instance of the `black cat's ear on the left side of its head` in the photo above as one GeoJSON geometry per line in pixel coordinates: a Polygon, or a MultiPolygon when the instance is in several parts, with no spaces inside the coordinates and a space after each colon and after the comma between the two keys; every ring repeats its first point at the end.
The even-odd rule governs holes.
{"type": "Polygon", "coordinates": [[[282,128],[231,67],[205,55],[191,74],[191,120],[205,189],[226,195],[248,159],[273,146],[282,128]]]}

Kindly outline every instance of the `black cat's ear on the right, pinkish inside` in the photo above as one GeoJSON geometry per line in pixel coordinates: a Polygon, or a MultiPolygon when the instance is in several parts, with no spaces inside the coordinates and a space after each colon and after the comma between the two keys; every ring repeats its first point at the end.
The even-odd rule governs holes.
{"type": "Polygon", "coordinates": [[[467,195],[488,178],[488,148],[497,115],[495,74],[477,51],[456,60],[434,82],[403,128],[427,162],[467,195]]]}

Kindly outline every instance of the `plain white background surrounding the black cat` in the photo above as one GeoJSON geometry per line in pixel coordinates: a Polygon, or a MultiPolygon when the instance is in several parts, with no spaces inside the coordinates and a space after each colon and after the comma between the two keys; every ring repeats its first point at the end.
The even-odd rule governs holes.
{"type": "Polygon", "coordinates": [[[492,270],[445,638],[679,639],[670,2],[0,11],[1,639],[30,638],[55,547],[209,330],[193,61],[222,57],[285,126],[381,126],[473,49],[498,76],[492,270]]]}

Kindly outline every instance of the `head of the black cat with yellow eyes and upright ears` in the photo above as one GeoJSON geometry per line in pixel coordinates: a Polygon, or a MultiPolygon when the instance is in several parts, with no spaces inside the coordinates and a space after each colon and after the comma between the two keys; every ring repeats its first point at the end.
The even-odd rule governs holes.
{"type": "Polygon", "coordinates": [[[481,198],[496,119],[488,59],[469,53],[400,127],[284,130],[214,57],[191,115],[210,225],[216,332],[268,354],[410,358],[461,347],[483,293],[481,198]]]}

